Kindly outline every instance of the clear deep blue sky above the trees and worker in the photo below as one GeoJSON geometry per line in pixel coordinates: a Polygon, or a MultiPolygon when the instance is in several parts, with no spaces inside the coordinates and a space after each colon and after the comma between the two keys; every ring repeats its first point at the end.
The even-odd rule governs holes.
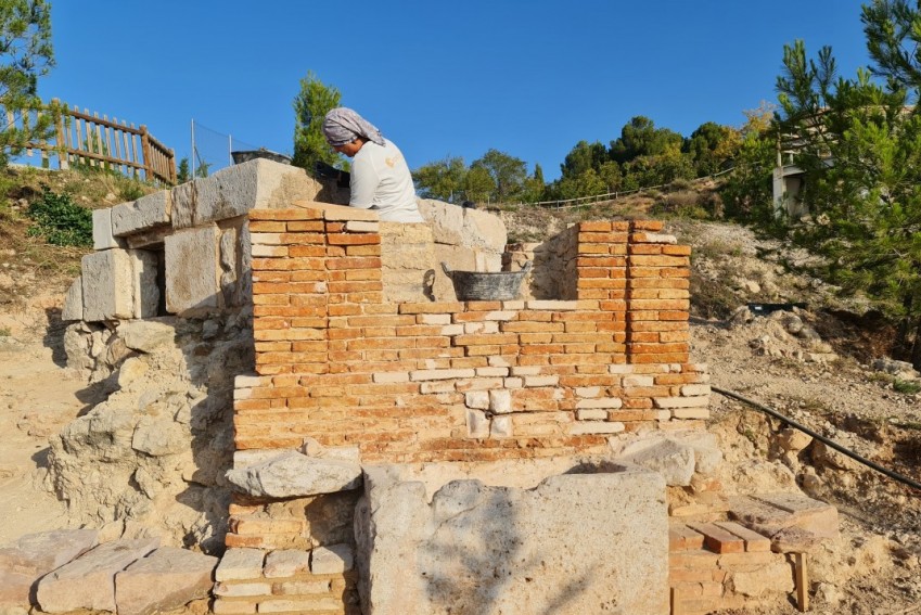
{"type": "MultiPolygon", "coordinates": [[[[784,43],[867,65],[855,0],[52,0],[59,98],[150,131],[178,157],[190,124],[291,153],[292,100],[314,71],[410,167],[490,148],[554,179],[579,140],[630,117],[690,134],[775,101],[784,43]]],[[[217,166],[227,161],[213,161],[217,166]]]]}

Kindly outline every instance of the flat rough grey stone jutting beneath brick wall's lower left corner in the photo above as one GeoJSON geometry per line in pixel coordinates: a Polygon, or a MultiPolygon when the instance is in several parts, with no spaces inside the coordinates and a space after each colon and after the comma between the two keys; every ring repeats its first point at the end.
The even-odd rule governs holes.
{"type": "Polygon", "coordinates": [[[227,479],[251,496],[297,498],[356,489],[361,485],[361,466],[289,451],[263,463],[230,470],[227,479]]]}

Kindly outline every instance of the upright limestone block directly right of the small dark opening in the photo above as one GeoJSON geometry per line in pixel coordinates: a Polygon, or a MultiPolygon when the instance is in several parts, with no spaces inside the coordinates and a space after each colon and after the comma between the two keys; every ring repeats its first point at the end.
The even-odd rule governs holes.
{"type": "Polygon", "coordinates": [[[166,238],[166,311],[188,316],[221,306],[219,245],[215,226],[166,238]]]}

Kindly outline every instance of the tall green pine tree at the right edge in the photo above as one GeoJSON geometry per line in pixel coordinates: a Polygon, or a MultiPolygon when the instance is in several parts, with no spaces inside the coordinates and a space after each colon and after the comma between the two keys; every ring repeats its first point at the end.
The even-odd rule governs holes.
{"type": "Polygon", "coordinates": [[[784,48],[780,129],[797,137],[810,213],[793,234],[827,257],[845,292],[901,319],[906,353],[914,331],[921,368],[921,12],[875,0],[862,22],[874,65],[854,78],[837,75],[830,48],[808,60],[802,41],[784,48]]]}

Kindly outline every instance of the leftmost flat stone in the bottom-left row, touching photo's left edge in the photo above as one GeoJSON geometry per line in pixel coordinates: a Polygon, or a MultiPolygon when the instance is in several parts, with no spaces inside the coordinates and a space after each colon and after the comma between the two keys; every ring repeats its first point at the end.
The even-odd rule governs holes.
{"type": "Polygon", "coordinates": [[[0,549],[0,571],[33,575],[33,580],[97,544],[95,529],[54,529],[27,534],[0,549]]]}

